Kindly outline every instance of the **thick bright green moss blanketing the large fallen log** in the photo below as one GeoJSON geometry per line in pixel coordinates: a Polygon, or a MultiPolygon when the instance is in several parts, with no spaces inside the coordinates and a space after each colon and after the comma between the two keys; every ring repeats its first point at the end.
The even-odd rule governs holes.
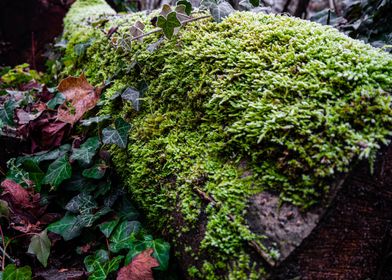
{"type": "MultiPolygon", "coordinates": [[[[132,123],[127,149],[111,151],[151,225],[176,245],[201,213],[207,217],[201,244],[185,250],[195,259],[191,277],[262,277],[261,263],[248,254],[247,242],[263,239],[246,224],[249,197],[269,190],[306,210],[328,194],[337,174],[358,159],[374,160],[389,143],[387,53],[331,27],[245,12],[219,24],[188,24],[154,52],[147,46],[157,34],[117,49],[93,27],[105,11],[113,13],[100,0],[71,8],[65,38],[73,64],[64,73],[85,71],[95,84],[113,80],[100,113],[132,123]],[[80,60],[75,46],[87,41],[80,60]],[[108,98],[127,87],[142,91],[140,112],[108,98]],[[200,191],[216,203],[206,203],[200,191]],[[172,226],[173,213],[182,227],[172,226]]],[[[100,28],[119,26],[111,39],[117,43],[138,18],[154,28],[142,13],[107,17],[100,28]]]]}

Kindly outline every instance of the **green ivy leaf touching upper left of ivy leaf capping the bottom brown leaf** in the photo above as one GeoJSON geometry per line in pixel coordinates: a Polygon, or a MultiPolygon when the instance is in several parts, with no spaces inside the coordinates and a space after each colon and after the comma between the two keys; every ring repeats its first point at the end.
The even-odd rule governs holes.
{"type": "Polygon", "coordinates": [[[118,253],[122,249],[131,247],[135,241],[135,234],[140,230],[138,221],[124,221],[118,225],[110,237],[110,251],[118,253]]]}

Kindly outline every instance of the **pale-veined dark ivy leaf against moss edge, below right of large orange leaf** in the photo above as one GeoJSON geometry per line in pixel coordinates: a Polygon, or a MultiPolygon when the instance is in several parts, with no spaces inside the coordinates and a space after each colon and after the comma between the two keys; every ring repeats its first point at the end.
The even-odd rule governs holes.
{"type": "Polygon", "coordinates": [[[131,125],[125,122],[122,118],[116,119],[116,129],[111,127],[102,130],[102,142],[104,144],[116,144],[120,148],[125,148],[128,143],[128,132],[131,125]]]}

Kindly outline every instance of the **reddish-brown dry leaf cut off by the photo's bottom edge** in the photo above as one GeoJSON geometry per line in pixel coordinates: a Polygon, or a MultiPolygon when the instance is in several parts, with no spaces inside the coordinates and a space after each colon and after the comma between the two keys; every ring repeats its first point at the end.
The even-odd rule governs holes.
{"type": "Polygon", "coordinates": [[[117,280],[154,280],[151,268],[159,266],[151,256],[153,249],[147,249],[137,255],[130,264],[120,269],[117,280]]]}

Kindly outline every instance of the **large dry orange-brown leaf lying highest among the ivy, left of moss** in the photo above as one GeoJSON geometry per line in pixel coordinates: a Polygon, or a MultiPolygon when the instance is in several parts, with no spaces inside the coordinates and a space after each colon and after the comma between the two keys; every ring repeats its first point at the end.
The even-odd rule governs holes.
{"type": "Polygon", "coordinates": [[[94,88],[84,76],[68,77],[60,82],[57,89],[68,102],[58,108],[58,120],[74,124],[87,111],[95,107],[102,88],[94,88]]]}

